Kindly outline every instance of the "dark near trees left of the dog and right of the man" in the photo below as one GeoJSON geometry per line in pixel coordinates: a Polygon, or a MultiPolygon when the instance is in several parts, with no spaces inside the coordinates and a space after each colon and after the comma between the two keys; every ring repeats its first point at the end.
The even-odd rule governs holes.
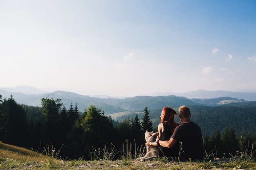
{"type": "MultiPolygon", "coordinates": [[[[125,142],[144,146],[145,131],[153,130],[148,107],[144,108],[142,120],[136,114],[115,122],[94,105],[83,113],[79,112],[77,104],[71,103],[66,108],[61,99],[42,98],[41,105],[18,104],[12,96],[2,99],[0,95],[0,141],[39,152],[53,145],[56,150],[61,148],[60,155],[66,159],[90,159],[92,148],[123,148],[125,142]]],[[[250,139],[250,145],[255,141],[255,138],[250,139]]],[[[240,141],[234,128],[226,129],[223,135],[217,129],[211,136],[204,134],[204,144],[209,154],[229,156],[229,153],[236,154],[240,141]]]]}

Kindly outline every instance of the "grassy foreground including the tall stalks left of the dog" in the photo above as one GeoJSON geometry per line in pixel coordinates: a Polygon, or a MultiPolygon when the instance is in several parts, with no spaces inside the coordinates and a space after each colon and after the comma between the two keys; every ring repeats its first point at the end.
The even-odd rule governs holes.
{"type": "Polygon", "coordinates": [[[0,170],[199,170],[199,169],[221,169],[232,170],[232,168],[246,168],[256,170],[256,163],[253,159],[252,150],[239,152],[245,157],[231,159],[206,159],[202,161],[168,161],[165,158],[155,158],[148,161],[136,161],[141,156],[143,148],[138,146],[134,153],[132,147],[125,144],[120,154],[121,159],[113,159],[116,153],[115,146],[92,150],[92,160],[61,160],[58,151],[53,152],[54,147],[48,146],[43,153],[38,153],[25,148],[12,146],[0,142],[0,170]]]}

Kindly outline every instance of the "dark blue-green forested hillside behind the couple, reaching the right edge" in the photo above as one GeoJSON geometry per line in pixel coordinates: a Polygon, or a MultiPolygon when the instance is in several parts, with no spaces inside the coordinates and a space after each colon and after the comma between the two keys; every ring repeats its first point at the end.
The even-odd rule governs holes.
{"type": "MultiPolygon", "coordinates": [[[[217,128],[220,132],[224,132],[225,128],[234,127],[236,135],[256,136],[256,102],[242,102],[236,104],[227,104],[222,106],[199,106],[188,105],[191,109],[191,120],[201,126],[202,133],[207,132],[209,135],[215,133],[217,128]]],[[[170,106],[178,113],[180,106],[170,106]]],[[[150,110],[150,119],[153,122],[153,127],[157,128],[160,123],[162,107],[150,110]]],[[[142,119],[144,113],[130,112],[122,115],[111,114],[112,119],[122,121],[126,117],[133,118],[138,115],[142,119]]],[[[180,119],[175,117],[175,121],[180,123],[180,119]]]]}

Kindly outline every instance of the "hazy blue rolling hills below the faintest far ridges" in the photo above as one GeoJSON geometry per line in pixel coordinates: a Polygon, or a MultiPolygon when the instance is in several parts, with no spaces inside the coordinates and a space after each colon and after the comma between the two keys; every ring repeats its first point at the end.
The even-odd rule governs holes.
{"type": "Polygon", "coordinates": [[[169,96],[136,96],[127,97],[124,99],[115,98],[98,98],[90,97],[86,95],[79,95],[67,91],[55,91],[53,93],[44,93],[38,95],[26,95],[19,92],[7,92],[0,90],[0,95],[2,98],[9,98],[11,95],[13,99],[19,104],[25,104],[28,106],[40,106],[42,98],[53,98],[61,99],[61,103],[65,105],[68,109],[72,104],[75,106],[77,104],[80,112],[83,112],[88,106],[94,105],[96,107],[102,108],[106,115],[119,113],[124,111],[144,111],[145,107],[149,110],[161,109],[165,106],[169,107],[179,107],[181,105],[201,105],[201,106],[217,106],[229,103],[245,102],[243,99],[236,99],[231,97],[219,97],[214,99],[189,99],[186,97],[179,97],[175,95],[169,96]]]}

